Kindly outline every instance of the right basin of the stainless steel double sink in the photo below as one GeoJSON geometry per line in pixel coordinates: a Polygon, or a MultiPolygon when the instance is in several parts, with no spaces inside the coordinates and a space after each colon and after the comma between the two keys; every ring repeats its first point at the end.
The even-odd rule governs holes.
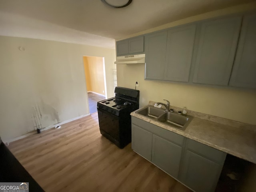
{"type": "Polygon", "coordinates": [[[190,123],[190,121],[192,120],[192,116],[182,116],[174,112],[166,112],[157,120],[172,127],[185,130],[185,125],[188,125],[190,123]]]}

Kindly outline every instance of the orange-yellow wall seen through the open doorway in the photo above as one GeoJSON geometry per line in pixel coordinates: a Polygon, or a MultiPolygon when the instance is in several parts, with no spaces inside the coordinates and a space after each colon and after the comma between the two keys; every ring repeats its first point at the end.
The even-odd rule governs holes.
{"type": "Polygon", "coordinates": [[[105,95],[103,58],[84,56],[87,91],[105,95]]]}

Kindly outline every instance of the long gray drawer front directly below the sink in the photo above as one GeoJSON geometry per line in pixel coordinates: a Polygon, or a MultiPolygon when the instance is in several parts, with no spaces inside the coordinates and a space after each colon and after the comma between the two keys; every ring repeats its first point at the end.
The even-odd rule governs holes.
{"type": "Polygon", "coordinates": [[[136,117],[132,117],[132,124],[135,124],[145,130],[148,130],[149,132],[152,132],[155,135],[158,135],[166,140],[169,140],[171,142],[174,142],[178,145],[183,145],[184,143],[184,137],[181,135],[178,135],[174,132],[168,131],[164,128],[160,128],[158,126],[155,126],[151,123],[148,123],[144,120],[140,120],[136,117]]]}

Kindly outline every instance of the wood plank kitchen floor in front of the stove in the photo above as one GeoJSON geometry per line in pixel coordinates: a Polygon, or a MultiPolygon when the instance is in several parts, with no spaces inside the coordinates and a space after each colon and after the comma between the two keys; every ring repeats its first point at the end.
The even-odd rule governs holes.
{"type": "Polygon", "coordinates": [[[100,134],[98,114],[10,143],[46,192],[190,192],[136,154],[100,134]]]}

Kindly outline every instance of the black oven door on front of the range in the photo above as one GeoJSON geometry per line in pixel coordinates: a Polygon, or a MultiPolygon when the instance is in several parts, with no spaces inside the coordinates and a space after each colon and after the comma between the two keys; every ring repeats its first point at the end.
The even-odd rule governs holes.
{"type": "MultiPolygon", "coordinates": [[[[119,118],[118,116],[97,108],[98,110],[98,118],[99,118],[99,125],[100,130],[103,130],[104,136],[108,139],[116,140],[116,142],[120,141],[119,137],[119,118]],[[107,134],[107,135],[106,135],[107,134]]],[[[102,132],[101,132],[102,133],[102,132]]],[[[114,141],[113,141],[114,142],[114,141]]]]}

